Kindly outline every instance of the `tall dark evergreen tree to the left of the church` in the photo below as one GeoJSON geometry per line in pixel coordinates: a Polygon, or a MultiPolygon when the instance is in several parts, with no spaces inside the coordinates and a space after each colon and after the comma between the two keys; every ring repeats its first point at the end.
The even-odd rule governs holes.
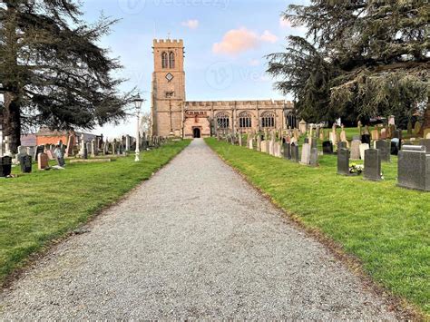
{"type": "Polygon", "coordinates": [[[73,0],[5,0],[0,4],[0,93],[5,135],[16,151],[22,129],[93,129],[117,122],[130,93],[120,95],[122,68],[97,45],[115,20],[81,20],[73,0]]]}

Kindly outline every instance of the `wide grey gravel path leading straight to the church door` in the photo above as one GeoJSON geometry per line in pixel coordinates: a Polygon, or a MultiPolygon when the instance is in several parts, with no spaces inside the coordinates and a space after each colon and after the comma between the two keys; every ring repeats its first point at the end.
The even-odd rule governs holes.
{"type": "Polygon", "coordinates": [[[195,140],[0,297],[3,318],[396,319],[195,140]]]}

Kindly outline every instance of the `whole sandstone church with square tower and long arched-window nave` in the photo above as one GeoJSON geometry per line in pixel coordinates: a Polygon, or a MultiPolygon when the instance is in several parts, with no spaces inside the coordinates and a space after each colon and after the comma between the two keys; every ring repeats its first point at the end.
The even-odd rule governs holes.
{"type": "Polygon", "coordinates": [[[155,39],[152,49],[153,135],[186,139],[297,126],[293,103],[284,100],[187,101],[183,41],[155,39]]]}

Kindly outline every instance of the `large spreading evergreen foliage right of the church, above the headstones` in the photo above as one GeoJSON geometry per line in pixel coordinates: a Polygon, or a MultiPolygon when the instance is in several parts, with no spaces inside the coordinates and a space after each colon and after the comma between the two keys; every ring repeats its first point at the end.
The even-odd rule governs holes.
{"type": "MultiPolygon", "coordinates": [[[[306,36],[315,48],[314,55],[327,62],[323,71],[330,73],[324,92],[328,90],[330,111],[343,117],[368,118],[403,115],[428,103],[429,13],[430,5],[425,1],[312,0],[310,5],[289,5],[284,17],[293,25],[308,28],[306,36]]],[[[289,38],[291,44],[293,37],[289,38]]],[[[287,54],[298,58],[293,50],[289,45],[287,54]]],[[[279,75],[279,63],[287,63],[279,57],[282,54],[270,56],[269,73],[279,75]]],[[[304,68],[317,67],[309,60],[296,60],[297,64],[289,67],[291,72],[284,73],[286,84],[298,85],[296,79],[304,77],[304,68]]],[[[308,91],[290,92],[298,106],[307,102],[308,109],[320,114],[322,97],[313,98],[318,83],[311,86],[307,80],[307,84],[311,87],[308,91]]]]}

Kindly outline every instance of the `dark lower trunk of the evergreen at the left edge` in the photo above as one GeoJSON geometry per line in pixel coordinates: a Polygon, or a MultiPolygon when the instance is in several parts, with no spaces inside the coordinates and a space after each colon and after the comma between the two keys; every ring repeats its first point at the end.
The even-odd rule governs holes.
{"type": "Polygon", "coordinates": [[[5,109],[3,111],[4,136],[9,137],[10,150],[18,152],[21,145],[21,113],[18,95],[5,93],[5,109]]]}

